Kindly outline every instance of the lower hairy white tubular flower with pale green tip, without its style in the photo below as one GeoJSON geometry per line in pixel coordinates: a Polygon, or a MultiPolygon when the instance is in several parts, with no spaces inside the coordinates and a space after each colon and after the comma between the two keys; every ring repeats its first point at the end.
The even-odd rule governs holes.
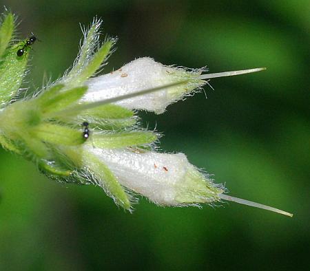
{"type": "Polygon", "coordinates": [[[156,204],[180,206],[214,202],[223,193],[223,189],[200,173],[183,153],[135,153],[129,149],[94,147],[85,151],[103,161],[122,186],[145,195],[156,204]]]}

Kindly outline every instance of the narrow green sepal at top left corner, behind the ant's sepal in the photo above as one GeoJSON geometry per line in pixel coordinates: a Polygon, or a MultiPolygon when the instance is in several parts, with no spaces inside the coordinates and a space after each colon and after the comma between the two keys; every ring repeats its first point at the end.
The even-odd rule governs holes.
{"type": "Polygon", "coordinates": [[[0,27],[0,57],[6,51],[6,47],[12,39],[14,33],[14,15],[10,12],[4,15],[4,19],[0,27]]]}

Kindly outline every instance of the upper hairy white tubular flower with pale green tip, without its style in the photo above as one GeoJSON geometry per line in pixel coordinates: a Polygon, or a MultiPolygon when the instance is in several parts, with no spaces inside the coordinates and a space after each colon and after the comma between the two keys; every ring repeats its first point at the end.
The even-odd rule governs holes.
{"type": "Polygon", "coordinates": [[[95,102],[187,80],[183,85],[116,102],[127,109],[163,113],[172,102],[205,85],[206,82],[199,78],[202,71],[203,69],[165,66],[149,57],[138,58],[110,74],[87,80],[88,90],[82,101],[95,102]]]}

